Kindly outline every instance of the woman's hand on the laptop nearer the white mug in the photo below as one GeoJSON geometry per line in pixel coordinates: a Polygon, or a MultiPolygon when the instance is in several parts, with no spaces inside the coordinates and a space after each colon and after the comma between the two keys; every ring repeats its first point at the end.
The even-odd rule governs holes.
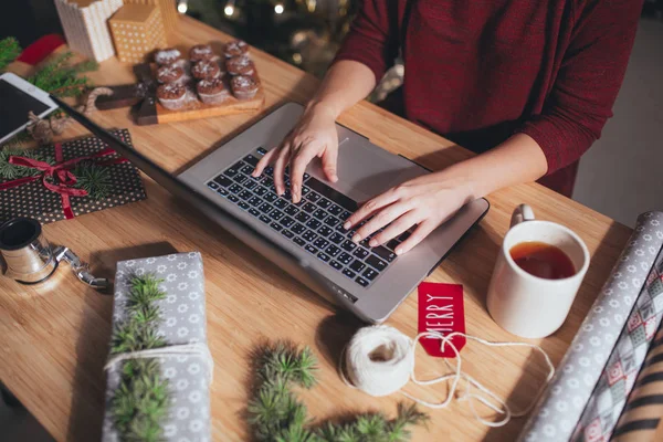
{"type": "Polygon", "coordinates": [[[417,225],[394,250],[400,255],[473,199],[471,186],[443,170],[406,181],[367,201],[347,219],[344,228],[351,229],[366,220],[352,236],[352,241],[359,242],[388,225],[369,241],[368,245],[375,248],[417,225]]]}

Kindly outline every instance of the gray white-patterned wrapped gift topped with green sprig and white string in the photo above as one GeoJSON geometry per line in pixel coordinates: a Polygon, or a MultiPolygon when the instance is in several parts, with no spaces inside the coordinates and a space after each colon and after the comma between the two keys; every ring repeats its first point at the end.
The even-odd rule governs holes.
{"type": "Polygon", "coordinates": [[[103,442],[211,440],[204,304],[198,252],[117,263],[103,442]]]}

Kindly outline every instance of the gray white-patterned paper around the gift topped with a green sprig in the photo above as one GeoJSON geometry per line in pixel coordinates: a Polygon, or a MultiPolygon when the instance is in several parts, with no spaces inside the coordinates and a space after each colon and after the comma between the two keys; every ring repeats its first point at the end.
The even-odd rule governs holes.
{"type": "MultiPolygon", "coordinates": [[[[164,280],[167,293],[159,302],[164,322],[159,328],[171,345],[207,344],[204,307],[204,276],[202,257],[198,252],[167,256],[120,261],[115,274],[113,323],[126,317],[125,299],[133,275],[154,274],[164,280]]],[[[210,441],[210,369],[201,356],[172,356],[158,358],[162,375],[169,380],[171,407],[164,424],[164,441],[210,441]]],[[[119,386],[122,364],[106,371],[106,412],[103,442],[119,442],[113,427],[110,403],[119,386]]]]}

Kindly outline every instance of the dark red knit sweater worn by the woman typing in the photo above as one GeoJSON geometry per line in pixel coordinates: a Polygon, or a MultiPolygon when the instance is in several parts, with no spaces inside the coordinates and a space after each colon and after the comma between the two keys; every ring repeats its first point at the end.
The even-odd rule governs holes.
{"type": "Polygon", "coordinates": [[[621,86],[642,0],[364,0],[336,60],[379,81],[399,50],[406,116],[476,152],[514,133],[567,196],[621,86]]]}

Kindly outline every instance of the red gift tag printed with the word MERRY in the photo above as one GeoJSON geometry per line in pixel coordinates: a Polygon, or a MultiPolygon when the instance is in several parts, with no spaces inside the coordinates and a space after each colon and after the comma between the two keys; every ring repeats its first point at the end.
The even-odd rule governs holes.
{"type": "MultiPolygon", "coordinates": [[[[459,284],[419,284],[419,333],[438,332],[446,336],[452,332],[465,333],[465,311],[463,308],[463,286],[459,284]]],[[[441,358],[453,358],[450,346],[440,350],[441,339],[423,337],[419,340],[425,352],[441,358]]],[[[460,351],[465,346],[464,336],[450,340],[460,351]]]]}

